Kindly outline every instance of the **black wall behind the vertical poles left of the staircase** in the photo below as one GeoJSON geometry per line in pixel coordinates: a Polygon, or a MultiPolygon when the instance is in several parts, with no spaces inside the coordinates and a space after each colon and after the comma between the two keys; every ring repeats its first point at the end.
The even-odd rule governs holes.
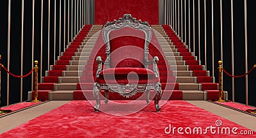
{"type": "MultiPolygon", "coordinates": [[[[64,44],[64,1],[61,1],[61,42],[60,42],[60,1],[56,1],[56,59],[59,56],[59,52],[64,49],[64,45],[67,45],[67,36],[68,36],[68,1],[66,3],[66,38],[64,44]],[[59,45],[61,43],[61,49],[59,45]]],[[[11,31],[10,31],[10,55],[8,55],[8,1],[1,1],[0,5],[0,54],[3,56],[1,63],[8,67],[7,60],[10,57],[10,72],[15,75],[20,75],[20,45],[21,45],[21,0],[12,0],[11,3],[11,31]]],[[[47,60],[48,60],[48,1],[44,0],[44,20],[43,20],[43,62],[40,66],[40,53],[41,53],[41,1],[35,0],[35,35],[34,35],[34,61],[32,61],[32,9],[33,9],[33,0],[24,1],[24,64],[23,64],[23,75],[30,72],[32,66],[34,66],[34,61],[38,60],[39,70],[42,70],[42,76],[45,76],[45,71],[47,70],[47,60]]],[[[77,3],[74,3],[74,6],[77,6],[77,3]]],[[[50,65],[54,65],[54,1],[51,1],[51,18],[50,18],[50,65]]],[[[73,8],[74,10],[74,8],[73,8]]],[[[70,1],[70,14],[71,14],[71,1],[70,1]]],[[[74,14],[74,12],[73,12],[74,14]]],[[[80,22],[80,20],[79,20],[80,22]]],[[[71,28],[71,15],[70,15],[70,28],[71,28]]],[[[73,27],[74,29],[74,27],[73,27]]],[[[77,26],[76,26],[77,30],[77,26]]],[[[69,40],[71,40],[71,31],[69,35],[69,40]]],[[[40,78],[40,71],[38,73],[38,78],[40,78]]],[[[25,101],[28,99],[28,91],[31,91],[31,82],[33,77],[29,75],[23,79],[23,96],[22,100],[25,101]]],[[[1,70],[1,105],[5,106],[7,104],[7,73],[2,69],[1,70]]],[[[38,79],[40,81],[40,79],[38,79]]],[[[10,103],[15,104],[20,102],[20,79],[12,77],[10,75],[10,103]]]]}

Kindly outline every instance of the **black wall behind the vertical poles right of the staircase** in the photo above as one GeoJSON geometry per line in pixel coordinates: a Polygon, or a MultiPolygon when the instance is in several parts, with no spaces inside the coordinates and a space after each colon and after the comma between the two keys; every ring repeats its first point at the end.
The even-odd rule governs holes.
{"type": "MultiPolygon", "coordinates": [[[[184,0],[183,0],[184,1],[184,0]]],[[[190,1],[191,15],[191,42],[189,44],[187,33],[187,45],[190,45],[191,51],[195,51],[198,56],[198,0],[195,0],[195,50],[193,49],[193,0],[190,1]]],[[[188,1],[186,1],[188,3],[188,1]]],[[[248,70],[256,64],[255,50],[253,51],[255,38],[255,5],[256,1],[247,1],[247,29],[248,29],[248,70]]],[[[214,0],[214,77],[218,82],[218,61],[221,59],[221,20],[220,20],[220,1],[214,0]]],[[[222,21],[223,21],[223,68],[227,72],[232,72],[232,52],[231,52],[231,1],[222,1],[222,21]]],[[[188,17],[188,6],[186,7],[188,17]]],[[[212,8],[211,1],[206,1],[206,19],[207,19],[207,70],[212,75],[212,8]]],[[[200,0],[200,51],[202,65],[204,61],[204,0],[200,0]]],[[[187,20],[188,24],[188,20],[187,20]]],[[[183,26],[184,27],[184,26],[183,26]]],[[[188,32],[188,27],[186,29],[188,32]]],[[[184,36],[183,36],[184,38],[184,36]]],[[[234,0],[234,75],[245,73],[245,48],[244,48],[244,1],[234,0]]],[[[228,99],[232,100],[232,78],[223,73],[223,89],[228,91],[228,99]]],[[[256,93],[253,85],[256,84],[256,70],[248,75],[248,104],[256,105],[256,93]]],[[[235,79],[235,102],[245,104],[245,77],[235,79]]]]}

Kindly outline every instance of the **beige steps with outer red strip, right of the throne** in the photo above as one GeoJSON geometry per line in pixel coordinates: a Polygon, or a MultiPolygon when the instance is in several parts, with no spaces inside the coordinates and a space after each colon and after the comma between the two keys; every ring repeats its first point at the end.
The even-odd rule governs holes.
{"type": "MultiPolygon", "coordinates": [[[[205,66],[201,65],[175,31],[168,25],[153,25],[152,28],[168,63],[173,59],[176,61],[177,70],[173,71],[173,76],[182,91],[182,99],[218,99],[218,84],[215,83],[214,77],[210,77],[210,72],[205,70],[205,66]]],[[[170,68],[173,66],[170,65],[170,68]]]]}

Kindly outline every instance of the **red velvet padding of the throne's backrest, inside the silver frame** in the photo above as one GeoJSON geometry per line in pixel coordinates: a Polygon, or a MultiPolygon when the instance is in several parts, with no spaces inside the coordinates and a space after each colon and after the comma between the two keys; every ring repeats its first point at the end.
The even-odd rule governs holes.
{"type": "Polygon", "coordinates": [[[111,68],[144,68],[145,33],[123,27],[109,33],[111,68]]]}

